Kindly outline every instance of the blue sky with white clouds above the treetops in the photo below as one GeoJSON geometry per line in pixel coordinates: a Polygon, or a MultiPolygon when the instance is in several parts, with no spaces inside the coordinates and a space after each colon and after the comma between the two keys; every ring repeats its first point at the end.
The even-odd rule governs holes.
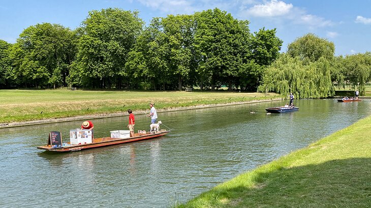
{"type": "Polygon", "coordinates": [[[308,32],[333,42],[335,55],[371,51],[370,0],[1,0],[0,39],[15,43],[25,28],[43,22],[75,29],[88,11],[110,7],[138,10],[146,23],[153,17],[219,8],[249,20],[253,32],[276,28],[284,41],[282,52],[308,32]]]}

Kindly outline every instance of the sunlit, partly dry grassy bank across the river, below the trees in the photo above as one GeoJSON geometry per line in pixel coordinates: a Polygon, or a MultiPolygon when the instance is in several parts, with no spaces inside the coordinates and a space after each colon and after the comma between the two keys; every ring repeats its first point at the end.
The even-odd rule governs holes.
{"type": "Polygon", "coordinates": [[[0,123],[279,98],[275,93],[184,91],[0,90],[0,123]]]}

